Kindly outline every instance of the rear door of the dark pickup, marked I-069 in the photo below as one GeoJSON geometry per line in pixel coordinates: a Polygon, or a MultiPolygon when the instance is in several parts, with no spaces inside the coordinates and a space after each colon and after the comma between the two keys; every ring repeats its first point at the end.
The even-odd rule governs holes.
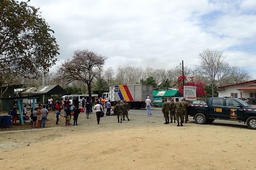
{"type": "MultiPolygon", "coordinates": [[[[209,118],[219,118],[219,119],[227,119],[226,117],[229,117],[228,111],[226,110],[226,107],[224,106],[224,99],[212,99],[210,101],[212,105],[209,108],[209,118]]],[[[230,112],[229,112],[230,113],[230,112]]]]}

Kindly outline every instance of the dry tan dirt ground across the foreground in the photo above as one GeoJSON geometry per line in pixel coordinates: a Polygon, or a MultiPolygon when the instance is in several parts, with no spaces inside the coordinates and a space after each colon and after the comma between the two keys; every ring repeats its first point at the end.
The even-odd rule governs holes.
{"type": "Polygon", "coordinates": [[[42,129],[29,122],[1,128],[0,170],[256,170],[256,130],[129,118],[104,116],[97,125],[95,113],[81,113],[78,126],[65,127],[50,112],[42,129]]]}

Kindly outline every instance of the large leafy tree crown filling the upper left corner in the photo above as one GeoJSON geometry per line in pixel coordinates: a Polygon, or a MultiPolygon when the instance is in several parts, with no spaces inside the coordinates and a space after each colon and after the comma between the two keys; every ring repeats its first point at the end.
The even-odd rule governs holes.
{"type": "Polygon", "coordinates": [[[38,9],[25,2],[0,0],[1,86],[15,84],[13,75],[35,77],[55,65],[59,48],[53,33],[38,9]]]}

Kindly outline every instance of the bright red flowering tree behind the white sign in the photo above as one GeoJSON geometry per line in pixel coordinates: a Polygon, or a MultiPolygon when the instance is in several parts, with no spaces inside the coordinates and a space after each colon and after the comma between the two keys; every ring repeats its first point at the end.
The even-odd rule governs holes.
{"type": "MultiPolygon", "coordinates": [[[[205,91],[205,89],[204,89],[205,83],[199,82],[199,81],[193,82],[193,78],[194,78],[194,77],[190,77],[190,79],[191,79],[190,82],[186,82],[186,83],[184,83],[184,85],[185,85],[185,86],[186,86],[186,85],[188,85],[188,86],[196,86],[196,95],[197,95],[197,96],[204,96],[204,95],[207,95],[207,93],[206,93],[206,91],[205,91]]],[[[180,77],[178,78],[178,82],[175,84],[175,86],[176,86],[177,88],[179,88],[178,91],[180,92],[180,95],[181,95],[181,96],[183,96],[183,80],[184,80],[184,81],[186,80],[186,76],[180,76],[180,77]]]]}

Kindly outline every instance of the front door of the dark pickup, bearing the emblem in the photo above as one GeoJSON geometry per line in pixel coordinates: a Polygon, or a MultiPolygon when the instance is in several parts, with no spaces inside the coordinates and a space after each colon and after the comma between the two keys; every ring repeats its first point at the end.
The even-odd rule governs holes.
{"type": "Polygon", "coordinates": [[[235,119],[235,120],[242,120],[244,115],[244,109],[238,107],[241,105],[235,100],[226,99],[226,107],[225,107],[225,114],[227,113],[227,119],[235,119]]]}

